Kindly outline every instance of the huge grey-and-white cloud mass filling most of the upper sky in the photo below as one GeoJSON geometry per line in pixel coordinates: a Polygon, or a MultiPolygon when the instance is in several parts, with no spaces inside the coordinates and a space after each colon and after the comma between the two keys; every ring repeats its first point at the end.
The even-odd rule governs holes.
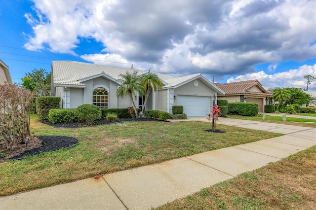
{"type": "MultiPolygon", "coordinates": [[[[255,65],[316,57],[314,0],[34,0],[29,50],[76,55],[80,40],[104,49],[82,59],[133,63],[176,75],[252,74],[255,65]]],[[[98,61],[95,61],[98,63],[98,61]]],[[[258,74],[260,72],[257,72],[258,74]]]]}

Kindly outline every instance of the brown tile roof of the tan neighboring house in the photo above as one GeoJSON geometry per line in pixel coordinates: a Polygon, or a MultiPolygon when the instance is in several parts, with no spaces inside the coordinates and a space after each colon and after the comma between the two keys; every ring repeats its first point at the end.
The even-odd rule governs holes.
{"type": "Polygon", "coordinates": [[[263,96],[272,96],[264,87],[260,84],[260,82],[255,80],[247,80],[240,82],[230,82],[225,84],[214,83],[217,87],[222,89],[225,92],[225,95],[233,95],[233,94],[252,94],[252,95],[263,95],[263,96]],[[257,86],[262,90],[260,92],[252,92],[248,91],[250,88],[257,86]]]}

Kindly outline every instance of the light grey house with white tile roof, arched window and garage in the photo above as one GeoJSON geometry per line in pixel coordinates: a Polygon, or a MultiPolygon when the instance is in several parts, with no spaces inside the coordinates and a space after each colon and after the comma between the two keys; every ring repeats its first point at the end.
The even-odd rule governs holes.
{"type": "MultiPolygon", "coordinates": [[[[126,108],[130,97],[117,97],[119,74],[135,70],[107,67],[74,61],[53,61],[51,65],[51,96],[62,99],[61,107],[76,108],[82,104],[94,104],[101,108],[126,108]]],[[[139,74],[147,71],[136,70],[139,74]]],[[[156,109],[172,113],[173,105],[183,105],[188,116],[206,116],[213,104],[213,95],[225,93],[200,73],[172,77],[156,73],[163,83],[161,90],[152,91],[145,110],[156,109]]],[[[134,96],[142,107],[145,96],[134,96]]]]}

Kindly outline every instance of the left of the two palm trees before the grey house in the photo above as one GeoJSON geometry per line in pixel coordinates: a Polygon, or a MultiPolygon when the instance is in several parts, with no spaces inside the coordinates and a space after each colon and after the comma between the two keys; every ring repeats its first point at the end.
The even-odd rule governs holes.
{"type": "Polygon", "coordinates": [[[140,76],[137,75],[137,71],[133,71],[132,73],[126,71],[126,74],[119,74],[119,76],[121,76],[122,79],[120,80],[121,85],[117,90],[117,96],[124,98],[126,93],[128,93],[135,110],[136,118],[138,118],[139,115],[133,100],[133,95],[135,95],[136,92],[143,94],[145,92],[145,87],[140,83],[140,76]]]}

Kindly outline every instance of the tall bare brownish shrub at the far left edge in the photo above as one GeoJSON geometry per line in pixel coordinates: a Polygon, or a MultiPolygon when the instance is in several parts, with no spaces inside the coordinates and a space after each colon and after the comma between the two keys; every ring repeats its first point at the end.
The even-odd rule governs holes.
{"type": "Polygon", "coordinates": [[[16,84],[0,85],[0,140],[8,149],[31,137],[30,104],[33,94],[16,84]]]}

